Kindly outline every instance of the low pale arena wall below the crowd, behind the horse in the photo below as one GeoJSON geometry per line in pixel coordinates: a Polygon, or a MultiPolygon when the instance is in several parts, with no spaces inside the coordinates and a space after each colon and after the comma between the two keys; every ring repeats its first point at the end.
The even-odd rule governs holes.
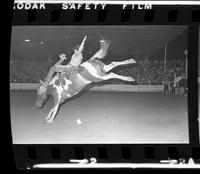
{"type": "MultiPolygon", "coordinates": [[[[10,83],[10,90],[36,90],[37,83],[10,83]]],[[[112,85],[94,86],[89,91],[163,92],[162,85],[112,85]]]]}

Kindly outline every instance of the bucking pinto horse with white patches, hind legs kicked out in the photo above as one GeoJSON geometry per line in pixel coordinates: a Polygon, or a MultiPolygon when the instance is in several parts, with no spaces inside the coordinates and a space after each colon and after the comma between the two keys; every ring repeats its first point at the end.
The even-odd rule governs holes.
{"type": "Polygon", "coordinates": [[[57,73],[52,78],[47,88],[45,88],[44,82],[40,80],[40,85],[37,88],[36,106],[41,108],[48,96],[53,97],[53,107],[45,118],[45,123],[52,123],[60,104],[66,99],[72,98],[80,93],[89,84],[109,79],[121,79],[129,82],[135,81],[131,76],[122,76],[109,72],[117,66],[136,63],[134,59],[119,62],[113,61],[106,65],[98,58],[98,56],[94,57],[95,56],[81,63],[79,67],[71,73],[70,78],[63,77],[64,80],[61,81],[59,73],[57,73]]]}

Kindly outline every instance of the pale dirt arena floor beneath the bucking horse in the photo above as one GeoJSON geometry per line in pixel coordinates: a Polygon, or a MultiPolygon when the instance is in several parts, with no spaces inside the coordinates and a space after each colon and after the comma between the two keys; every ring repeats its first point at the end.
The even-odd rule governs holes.
{"type": "Polygon", "coordinates": [[[66,102],[44,124],[48,100],[36,108],[36,91],[11,91],[14,144],[188,143],[187,97],[162,93],[92,92],[66,102]]]}

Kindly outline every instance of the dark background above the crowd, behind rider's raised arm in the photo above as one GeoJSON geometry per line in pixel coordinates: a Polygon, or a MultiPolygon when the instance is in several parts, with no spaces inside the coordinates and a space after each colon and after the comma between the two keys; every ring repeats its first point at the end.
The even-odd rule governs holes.
{"type": "Polygon", "coordinates": [[[99,49],[101,36],[111,40],[107,61],[144,56],[163,60],[165,43],[168,60],[184,60],[187,49],[184,26],[18,26],[12,29],[11,60],[55,62],[62,52],[70,58],[85,35],[85,60],[99,49]]]}

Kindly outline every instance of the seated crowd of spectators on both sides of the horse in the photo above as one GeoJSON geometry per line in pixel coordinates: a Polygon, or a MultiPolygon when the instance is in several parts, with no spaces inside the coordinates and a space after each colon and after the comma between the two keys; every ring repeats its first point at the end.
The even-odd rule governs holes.
{"type": "MultiPolygon", "coordinates": [[[[38,83],[44,79],[52,64],[43,61],[10,61],[11,83],[38,83]]],[[[136,64],[123,65],[114,72],[124,76],[132,76],[138,85],[162,85],[172,81],[174,77],[185,74],[184,60],[168,60],[164,72],[163,60],[137,60],[136,64]]],[[[121,80],[110,83],[126,84],[121,80]]]]}

